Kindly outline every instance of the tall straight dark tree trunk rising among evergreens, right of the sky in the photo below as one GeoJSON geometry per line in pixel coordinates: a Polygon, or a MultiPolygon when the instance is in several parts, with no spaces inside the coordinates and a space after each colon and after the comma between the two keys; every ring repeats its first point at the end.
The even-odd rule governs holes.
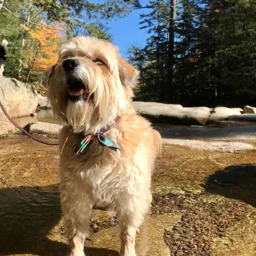
{"type": "Polygon", "coordinates": [[[174,102],[174,22],[176,16],[176,0],[170,0],[170,22],[168,27],[168,50],[166,63],[166,93],[163,95],[165,102],[174,102]]]}

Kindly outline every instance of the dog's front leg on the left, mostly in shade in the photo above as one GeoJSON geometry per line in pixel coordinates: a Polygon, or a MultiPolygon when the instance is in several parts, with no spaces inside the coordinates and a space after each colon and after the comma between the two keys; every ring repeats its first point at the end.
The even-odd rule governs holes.
{"type": "Polygon", "coordinates": [[[89,235],[90,213],[92,204],[86,193],[78,191],[78,186],[70,182],[61,183],[61,202],[64,225],[69,239],[67,256],[84,256],[84,242],[89,235]]]}

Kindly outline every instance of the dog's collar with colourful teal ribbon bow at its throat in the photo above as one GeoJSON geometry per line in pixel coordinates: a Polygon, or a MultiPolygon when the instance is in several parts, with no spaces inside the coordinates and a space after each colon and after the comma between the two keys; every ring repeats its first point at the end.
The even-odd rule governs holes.
{"type": "Polygon", "coordinates": [[[96,134],[88,134],[86,136],[83,135],[82,141],[79,143],[78,148],[74,151],[74,158],[79,158],[81,154],[85,154],[88,150],[88,146],[90,146],[91,142],[98,141],[101,146],[107,146],[110,150],[120,150],[121,147],[118,145],[117,142],[108,138],[105,134],[107,131],[111,130],[116,126],[117,122],[119,121],[120,116],[114,118],[113,122],[110,122],[106,128],[101,129],[96,134]]]}

